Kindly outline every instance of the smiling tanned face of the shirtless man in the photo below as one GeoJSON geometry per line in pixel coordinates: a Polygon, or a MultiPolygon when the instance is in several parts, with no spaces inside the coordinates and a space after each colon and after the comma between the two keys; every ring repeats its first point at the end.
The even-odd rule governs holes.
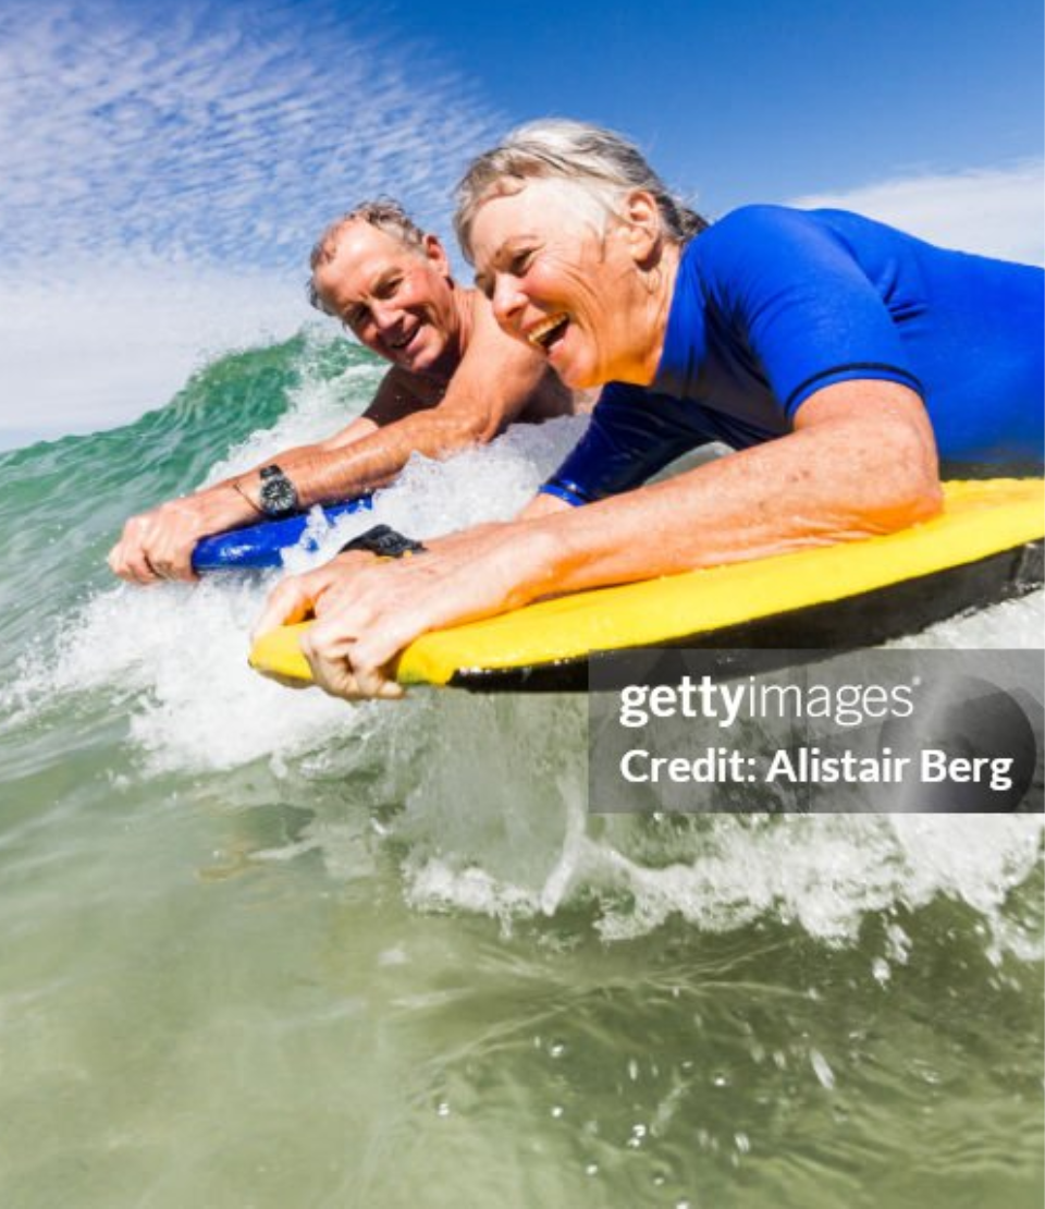
{"type": "Polygon", "coordinates": [[[432,377],[457,369],[460,324],[449,264],[435,236],[413,248],[368,222],[350,222],[313,282],[326,306],[381,357],[432,377]]]}

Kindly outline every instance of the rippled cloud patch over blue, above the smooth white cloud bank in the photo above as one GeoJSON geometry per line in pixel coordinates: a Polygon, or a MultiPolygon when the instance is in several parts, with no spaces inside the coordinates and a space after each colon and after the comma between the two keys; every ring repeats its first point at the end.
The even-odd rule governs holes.
{"type": "Polygon", "coordinates": [[[0,17],[0,255],[288,264],[375,192],[443,218],[490,133],[460,80],[324,0],[45,0],[0,17]]]}

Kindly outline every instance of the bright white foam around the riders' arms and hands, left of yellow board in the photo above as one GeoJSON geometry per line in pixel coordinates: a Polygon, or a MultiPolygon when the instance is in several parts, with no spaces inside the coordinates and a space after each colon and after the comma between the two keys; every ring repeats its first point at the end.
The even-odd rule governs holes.
{"type": "MultiPolygon", "coordinates": [[[[329,433],[346,421],[346,397],[358,410],[373,381],[368,370],[349,370],[336,383],[306,380],[289,415],[234,450],[210,478],[256,464],[289,442],[329,433]]],[[[300,571],[321,562],[352,532],[378,522],[431,537],[506,517],[533,494],[584,423],[518,426],[482,451],[446,462],[416,458],[400,482],[379,493],[372,511],[329,532],[319,553],[294,551],[288,566],[300,571]]],[[[34,687],[35,708],[83,692],[129,694],[132,739],[156,770],[204,771],[263,757],[289,759],[333,735],[371,729],[375,711],[391,718],[395,706],[346,706],[315,690],[289,693],[248,669],[250,626],[277,579],[272,572],[215,575],[198,586],[114,585],[66,619],[51,654],[30,656],[22,683],[34,687]],[[39,692],[40,684],[48,686],[46,693],[39,692]]],[[[12,692],[19,694],[17,684],[12,692]]],[[[437,708],[423,712],[435,725],[437,708]]]]}

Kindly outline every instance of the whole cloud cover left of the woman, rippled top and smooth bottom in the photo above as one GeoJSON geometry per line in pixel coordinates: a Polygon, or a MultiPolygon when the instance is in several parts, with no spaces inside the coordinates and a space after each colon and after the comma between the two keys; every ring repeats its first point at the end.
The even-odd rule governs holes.
{"type": "Polygon", "coordinates": [[[0,445],[133,420],[290,335],[312,242],[367,196],[445,224],[493,118],[354,11],[0,8],[0,445]]]}

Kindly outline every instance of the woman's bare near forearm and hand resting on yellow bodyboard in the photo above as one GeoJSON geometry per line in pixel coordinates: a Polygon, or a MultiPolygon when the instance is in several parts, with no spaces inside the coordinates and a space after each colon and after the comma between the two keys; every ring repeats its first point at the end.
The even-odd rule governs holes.
{"type": "MultiPolygon", "coordinates": [[[[428,630],[553,592],[893,532],[940,502],[918,395],[892,382],[841,382],[806,400],[790,435],[667,482],[484,526],[429,555],[346,567],[327,579],[302,646],[327,692],[394,696],[394,656],[428,630]]],[[[292,584],[277,590],[260,631],[285,620],[292,584]]]]}

